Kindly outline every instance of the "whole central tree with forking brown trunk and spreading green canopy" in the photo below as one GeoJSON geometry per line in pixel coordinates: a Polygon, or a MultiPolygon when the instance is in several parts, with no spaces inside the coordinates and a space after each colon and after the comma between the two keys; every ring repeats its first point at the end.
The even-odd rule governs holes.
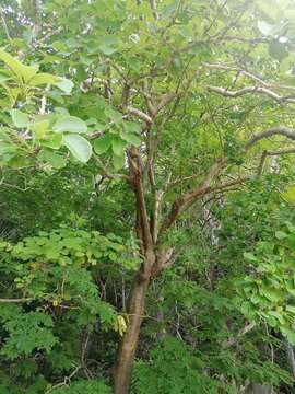
{"type": "Polygon", "coordinates": [[[2,115],[2,163],[21,157],[17,167],[62,167],[70,151],[104,178],[127,182],[134,195],[142,263],[129,292],[115,393],[129,392],[146,293],[177,252],[172,234],[179,218],[208,196],[262,177],[269,158],[294,152],[294,7],[268,4],[48,0],[38,4],[38,28],[30,12],[20,23],[27,33],[21,40],[2,11],[8,50],[22,49],[44,71],[1,55],[19,78],[11,81],[3,71],[10,101],[2,115]],[[38,102],[40,80],[51,89],[37,89],[38,102]],[[25,130],[21,137],[16,131],[21,144],[13,140],[15,128],[25,130]]]}

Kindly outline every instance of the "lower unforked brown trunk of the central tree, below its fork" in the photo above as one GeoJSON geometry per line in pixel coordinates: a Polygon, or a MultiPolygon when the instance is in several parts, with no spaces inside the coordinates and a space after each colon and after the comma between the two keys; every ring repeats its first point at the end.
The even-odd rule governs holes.
{"type": "Polygon", "coordinates": [[[128,300],[129,324],[118,350],[114,371],[115,394],[129,393],[131,371],[145,310],[145,297],[149,282],[150,277],[144,277],[140,270],[133,280],[130,290],[128,300]]]}

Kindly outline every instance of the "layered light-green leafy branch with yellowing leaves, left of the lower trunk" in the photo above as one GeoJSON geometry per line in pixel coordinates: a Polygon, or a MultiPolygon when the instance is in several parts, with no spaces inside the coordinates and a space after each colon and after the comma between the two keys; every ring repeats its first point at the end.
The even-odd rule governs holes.
{"type": "Polygon", "coordinates": [[[1,250],[5,253],[1,269],[13,280],[12,292],[19,289],[24,298],[50,302],[54,306],[63,303],[81,306],[82,312],[76,315],[79,324],[93,323],[96,314],[106,327],[114,324],[115,312],[99,300],[93,277],[111,269],[111,265],[133,264],[117,236],[64,227],[42,231],[16,245],[2,242],[1,250]]]}

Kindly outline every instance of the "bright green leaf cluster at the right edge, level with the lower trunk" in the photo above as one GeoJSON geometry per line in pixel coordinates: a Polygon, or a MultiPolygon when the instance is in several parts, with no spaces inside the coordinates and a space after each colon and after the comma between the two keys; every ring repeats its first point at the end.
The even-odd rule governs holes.
{"type": "Polygon", "coordinates": [[[250,318],[264,320],[295,344],[295,227],[287,222],[270,241],[260,241],[255,254],[245,253],[252,275],[243,279],[241,310],[250,318]]]}

